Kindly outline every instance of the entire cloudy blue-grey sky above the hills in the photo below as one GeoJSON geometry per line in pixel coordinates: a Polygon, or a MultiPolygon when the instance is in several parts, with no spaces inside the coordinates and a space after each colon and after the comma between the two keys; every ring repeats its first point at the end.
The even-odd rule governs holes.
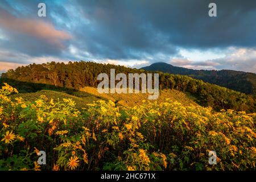
{"type": "Polygon", "coordinates": [[[0,72],[85,60],[256,73],[255,19],[255,0],[1,0],[0,72]]]}

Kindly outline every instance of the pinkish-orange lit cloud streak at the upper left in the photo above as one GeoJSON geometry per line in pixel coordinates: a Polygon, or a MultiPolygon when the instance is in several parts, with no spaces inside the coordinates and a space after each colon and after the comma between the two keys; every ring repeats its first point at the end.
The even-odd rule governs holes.
{"type": "Polygon", "coordinates": [[[5,10],[0,11],[0,27],[44,39],[60,48],[64,48],[61,40],[72,38],[67,32],[56,30],[53,24],[36,19],[16,18],[5,10]]]}

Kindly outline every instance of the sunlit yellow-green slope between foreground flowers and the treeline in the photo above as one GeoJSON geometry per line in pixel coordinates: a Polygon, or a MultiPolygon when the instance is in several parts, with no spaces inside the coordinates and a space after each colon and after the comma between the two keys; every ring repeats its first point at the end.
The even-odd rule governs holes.
{"type": "MultiPolygon", "coordinates": [[[[46,96],[47,98],[53,99],[53,101],[72,99],[76,103],[77,109],[88,108],[88,104],[92,104],[94,101],[104,100],[113,101],[117,106],[124,107],[134,107],[138,105],[142,105],[144,101],[147,100],[147,94],[100,94],[97,92],[97,88],[93,88],[90,86],[86,86],[85,88],[81,88],[80,91],[73,90],[72,92],[67,91],[53,91],[53,90],[39,90],[38,92],[30,92],[30,93],[18,93],[11,95],[10,98],[18,98],[22,97],[26,101],[36,101],[40,96],[46,96]]],[[[177,90],[164,89],[160,92],[160,96],[156,102],[162,103],[166,101],[166,98],[180,102],[183,106],[197,105],[195,98],[189,96],[189,94],[185,94],[183,92],[179,92],[177,90]]],[[[154,102],[154,101],[151,101],[154,102]]]]}

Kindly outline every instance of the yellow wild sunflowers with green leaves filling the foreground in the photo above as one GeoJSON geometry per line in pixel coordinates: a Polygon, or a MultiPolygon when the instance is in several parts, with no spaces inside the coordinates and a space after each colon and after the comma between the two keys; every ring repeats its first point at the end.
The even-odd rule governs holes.
{"type": "Polygon", "coordinates": [[[213,111],[166,100],[131,108],[99,100],[77,110],[72,99],[18,97],[0,90],[2,170],[255,169],[256,114],[213,111]],[[36,162],[46,151],[47,164],[36,162]],[[217,152],[217,165],[208,152],[217,152]]]}

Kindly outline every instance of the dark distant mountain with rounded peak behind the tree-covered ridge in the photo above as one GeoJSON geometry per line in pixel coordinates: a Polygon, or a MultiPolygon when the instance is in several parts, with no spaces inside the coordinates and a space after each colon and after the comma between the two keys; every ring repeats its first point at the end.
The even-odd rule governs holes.
{"type": "Polygon", "coordinates": [[[167,63],[154,63],[143,67],[146,71],[160,71],[164,73],[187,75],[205,82],[224,86],[226,88],[243,92],[246,94],[256,93],[256,74],[233,70],[196,70],[175,67],[167,63]]]}

